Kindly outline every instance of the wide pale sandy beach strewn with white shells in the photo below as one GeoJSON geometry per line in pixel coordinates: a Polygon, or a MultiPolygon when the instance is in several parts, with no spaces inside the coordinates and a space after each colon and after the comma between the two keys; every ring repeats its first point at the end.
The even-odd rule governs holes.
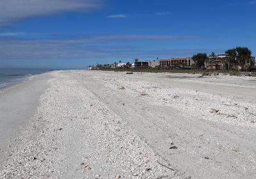
{"type": "Polygon", "coordinates": [[[63,70],[0,90],[0,178],[256,178],[256,77],[63,70]]]}

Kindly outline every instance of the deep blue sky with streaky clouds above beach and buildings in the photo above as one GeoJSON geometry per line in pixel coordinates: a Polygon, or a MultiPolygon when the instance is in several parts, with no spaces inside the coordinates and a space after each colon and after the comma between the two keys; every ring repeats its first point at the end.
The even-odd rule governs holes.
{"type": "Polygon", "coordinates": [[[1,0],[0,68],[86,68],[249,47],[256,1],[1,0]]]}

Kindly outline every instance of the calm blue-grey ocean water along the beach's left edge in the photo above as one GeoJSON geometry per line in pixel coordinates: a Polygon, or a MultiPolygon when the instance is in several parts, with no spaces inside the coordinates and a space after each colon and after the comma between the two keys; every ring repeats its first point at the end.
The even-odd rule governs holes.
{"type": "Polygon", "coordinates": [[[46,69],[1,69],[0,68],[0,88],[24,81],[31,75],[42,74],[52,70],[46,69]]]}

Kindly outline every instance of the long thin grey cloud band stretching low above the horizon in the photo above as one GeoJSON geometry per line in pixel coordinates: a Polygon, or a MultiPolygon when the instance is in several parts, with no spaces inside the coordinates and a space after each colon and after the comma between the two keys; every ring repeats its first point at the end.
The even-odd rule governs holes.
{"type": "Polygon", "coordinates": [[[111,56],[131,57],[140,54],[139,48],[115,47],[120,42],[143,40],[192,39],[200,36],[175,35],[92,35],[83,38],[5,38],[0,36],[0,58],[5,59],[45,59],[45,58],[99,58],[111,56]],[[93,45],[94,44],[94,45],[93,45]],[[100,44],[100,45],[99,45],[100,44]]]}

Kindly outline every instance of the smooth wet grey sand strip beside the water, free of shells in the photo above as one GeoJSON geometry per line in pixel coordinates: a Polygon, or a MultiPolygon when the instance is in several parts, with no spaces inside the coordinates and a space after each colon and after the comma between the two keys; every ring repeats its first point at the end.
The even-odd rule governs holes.
{"type": "Polygon", "coordinates": [[[38,107],[40,95],[47,88],[51,72],[26,77],[24,81],[0,89],[0,161],[15,139],[29,124],[38,107]]]}

